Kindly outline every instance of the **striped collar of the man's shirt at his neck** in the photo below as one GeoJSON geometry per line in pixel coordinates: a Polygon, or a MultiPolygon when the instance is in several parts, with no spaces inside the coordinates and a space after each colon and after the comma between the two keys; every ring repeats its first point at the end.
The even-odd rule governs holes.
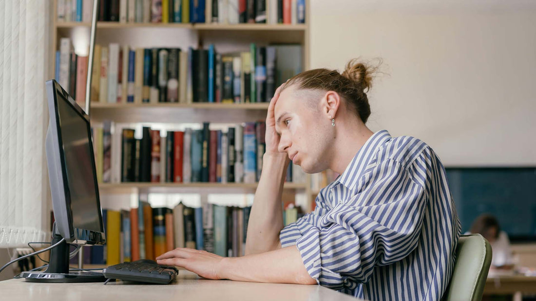
{"type": "Polygon", "coordinates": [[[389,140],[391,140],[391,135],[386,130],[379,130],[370,136],[336,181],[343,184],[346,188],[352,189],[357,183],[364,168],[374,157],[378,147],[387,143],[389,140]]]}

